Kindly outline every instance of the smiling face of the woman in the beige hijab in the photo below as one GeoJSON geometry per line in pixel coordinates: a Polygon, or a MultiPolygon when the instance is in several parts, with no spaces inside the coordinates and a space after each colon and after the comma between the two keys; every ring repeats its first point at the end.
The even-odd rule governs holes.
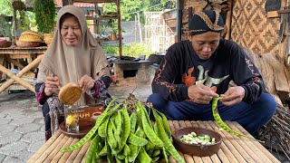
{"type": "Polygon", "coordinates": [[[63,17],[61,34],[64,43],[67,45],[74,46],[80,43],[82,39],[82,30],[81,25],[75,16],[71,15],[63,17]]]}

